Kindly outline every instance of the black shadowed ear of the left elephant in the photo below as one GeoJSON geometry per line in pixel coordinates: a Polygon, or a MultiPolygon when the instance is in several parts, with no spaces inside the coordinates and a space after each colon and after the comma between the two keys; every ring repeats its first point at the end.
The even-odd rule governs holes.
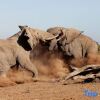
{"type": "Polygon", "coordinates": [[[27,35],[26,35],[26,28],[23,26],[22,30],[21,30],[21,35],[19,36],[17,43],[23,47],[26,51],[30,51],[32,50],[31,45],[29,44],[28,40],[30,39],[27,35]]]}

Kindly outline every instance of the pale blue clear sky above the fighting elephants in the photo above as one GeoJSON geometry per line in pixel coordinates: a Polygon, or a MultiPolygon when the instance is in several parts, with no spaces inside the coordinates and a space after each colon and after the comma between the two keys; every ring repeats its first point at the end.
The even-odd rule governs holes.
{"type": "Polygon", "coordinates": [[[74,27],[100,42],[100,0],[0,0],[0,38],[18,25],[74,27]]]}

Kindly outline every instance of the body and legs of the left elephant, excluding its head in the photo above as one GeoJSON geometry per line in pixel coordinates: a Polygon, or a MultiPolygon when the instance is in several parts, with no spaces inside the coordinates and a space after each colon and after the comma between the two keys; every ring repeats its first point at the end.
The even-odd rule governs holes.
{"type": "MultiPolygon", "coordinates": [[[[0,76],[6,77],[11,67],[20,65],[32,72],[34,77],[37,77],[38,71],[30,61],[29,51],[26,51],[17,43],[19,39],[17,35],[7,40],[0,40],[0,76]]],[[[20,35],[22,35],[22,33],[20,35]]],[[[28,40],[30,40],[30,38],[28,40]]]]}

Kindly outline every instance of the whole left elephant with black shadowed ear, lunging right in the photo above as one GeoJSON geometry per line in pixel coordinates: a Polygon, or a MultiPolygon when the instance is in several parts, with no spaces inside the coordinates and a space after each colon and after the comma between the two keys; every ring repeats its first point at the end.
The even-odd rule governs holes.
{"type": "Polygon", "coordinates": [[[54,39],[55,36],[28,26],[19,26],[19,28],[21,29],[20,32],[9,37],[7,40],[0,41],[0,69],[2,75],[5,75],[10,67],[18,62],[17,66],[21,65],[37,77],[38,71],[30,61],[30,51],[39,44],[40,40],[46,42],[49,39],[54,39]],[[29,46],[26,46],[28,44],[29,46]]]}

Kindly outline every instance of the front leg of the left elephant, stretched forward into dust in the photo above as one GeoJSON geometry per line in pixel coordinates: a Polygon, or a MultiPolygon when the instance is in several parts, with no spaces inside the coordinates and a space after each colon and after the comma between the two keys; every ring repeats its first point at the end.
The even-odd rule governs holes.
{"type": "Polygon", "coordinates": [[[35,65],[32,64],[29,56],[27,56],[26,54],[19,55],[18,62],[23,68],[32,72],[35,77],[38,76],[37,68],[35,67],[35,65]]]}

